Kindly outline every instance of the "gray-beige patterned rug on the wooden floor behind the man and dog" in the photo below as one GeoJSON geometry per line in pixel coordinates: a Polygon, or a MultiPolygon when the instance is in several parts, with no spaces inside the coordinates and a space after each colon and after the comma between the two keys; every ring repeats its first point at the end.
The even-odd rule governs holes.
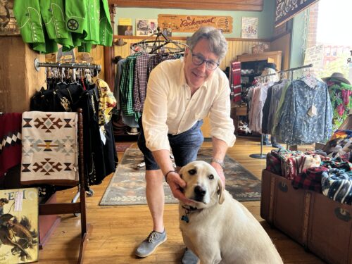
{"type": "MultiPolygon", "coordinates": [[[[212,149],[202,147],[198,160],[210,162],[212,149]]],[[[100,201],[101,206],[121,206],[146,204],[144,180],[145,169],[137,170],[137,165],[144,161],[142,152],[137,147],[128,148],[122,156],[115,174],[100,201]]],[[[227,191],[237,201],[259,201],[261,182],[241,164],[229,156],[225,157],[225,177],[227,191]]],[[[165,203],[178,203],[172,196],[168,184],[164,182],[165,203]]]]}

